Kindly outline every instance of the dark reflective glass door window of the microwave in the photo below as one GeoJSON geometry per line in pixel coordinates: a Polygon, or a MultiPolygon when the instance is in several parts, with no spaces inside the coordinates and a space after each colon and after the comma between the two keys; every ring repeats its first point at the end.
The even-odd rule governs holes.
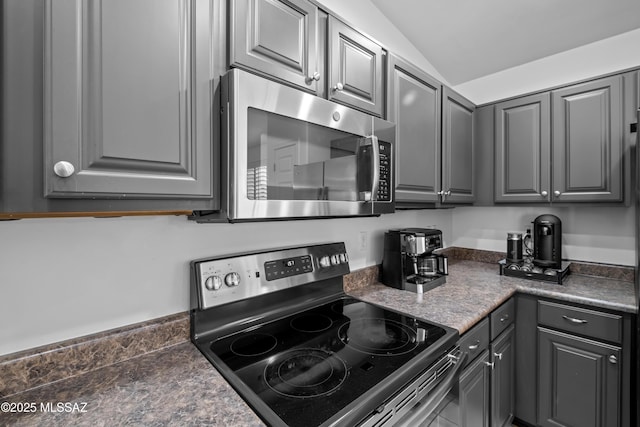
{"type": "Polygon", "coordinates": [[[360,135],[248,110],[249,200],[366,200],[371,143],[360,135]]]}

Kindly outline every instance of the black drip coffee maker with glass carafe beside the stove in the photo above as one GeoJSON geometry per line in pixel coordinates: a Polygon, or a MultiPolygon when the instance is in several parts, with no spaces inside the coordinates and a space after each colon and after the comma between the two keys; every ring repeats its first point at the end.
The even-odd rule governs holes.
{"type": "Polygon", "coordinates": [[[448,259],[434,254],[442,248],[442,232],[429,228],[389,230],[384,235],[382,283],[416,293],[446,282],[448,259]]]}

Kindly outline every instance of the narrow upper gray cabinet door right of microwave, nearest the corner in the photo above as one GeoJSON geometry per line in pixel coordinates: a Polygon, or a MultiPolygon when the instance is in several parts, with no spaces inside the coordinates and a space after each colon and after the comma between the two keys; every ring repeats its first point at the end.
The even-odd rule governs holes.
{"type": "Polygon", "coordinates": [[[475,105],[446,86],[442,95],[442,202],[473,203],[475,105]]]}

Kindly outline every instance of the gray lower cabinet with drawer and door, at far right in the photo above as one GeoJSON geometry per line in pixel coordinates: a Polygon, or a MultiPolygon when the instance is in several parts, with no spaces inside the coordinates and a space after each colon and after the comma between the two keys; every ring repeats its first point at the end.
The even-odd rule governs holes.
{"type": "Polygon", "coordinates": [[[631,425],[630,315],[516,297],[515,417],[528,425],[631,425]]]}

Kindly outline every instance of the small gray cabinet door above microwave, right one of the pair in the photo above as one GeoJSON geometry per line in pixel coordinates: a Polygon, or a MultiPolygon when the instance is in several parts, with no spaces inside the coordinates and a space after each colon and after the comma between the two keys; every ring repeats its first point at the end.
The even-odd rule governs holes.
{"type": "Polygon", "coordinates": [[[382,47],[333,16],[328,37],[329,99],[382,117],[382,47]]]}

